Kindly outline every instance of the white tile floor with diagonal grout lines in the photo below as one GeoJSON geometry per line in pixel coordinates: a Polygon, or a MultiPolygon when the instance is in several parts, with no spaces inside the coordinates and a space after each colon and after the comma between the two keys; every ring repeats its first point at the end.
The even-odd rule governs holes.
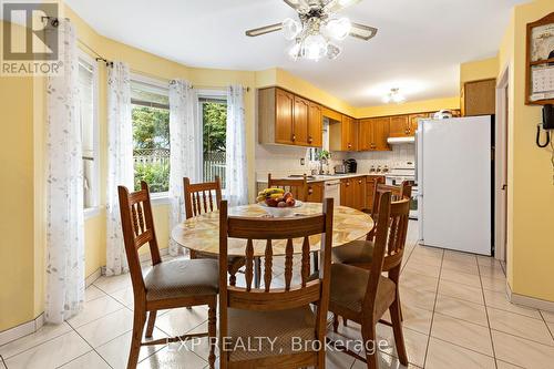
{"type": "MultiPolygon", "coordinates": [[[[416,236],[412,223],[401,278],[410,368],[554,368],[553,312],[510,304],[503,267],[494,259],[422,247],[416,245],[416,236]]],[[[82,314],[1,346],[0,355],[9,369],[125,368],[132,310],[130,277],[101,277],[86,289],[82,314]]],[[[206,319],[202,307],[162,311],[154,336],[206,330],[206,319]]],[[[391,329],[380,325],[378,332],[390,342],[390,349],[380,353],[380,367],[403,368],[391,329]]],[[[355,324],[341,326],[339,334],[360,338],[355,324]]],[[[167,346],[143,348],[138,367],[204,368],[206,347],[194,352],[167,346]]],[[[328,353],[327,367],[366,368],[340,352],[328,353]]]]}

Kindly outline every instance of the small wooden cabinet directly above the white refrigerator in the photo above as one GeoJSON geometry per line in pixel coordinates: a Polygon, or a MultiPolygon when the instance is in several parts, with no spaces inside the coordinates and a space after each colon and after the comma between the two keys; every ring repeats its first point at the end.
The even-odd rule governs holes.
{"type": "Polygon", "coordinates": [[[462,89],[462,115],[492,115],[496,110],[496,80],[465,82],[462,89]]]}

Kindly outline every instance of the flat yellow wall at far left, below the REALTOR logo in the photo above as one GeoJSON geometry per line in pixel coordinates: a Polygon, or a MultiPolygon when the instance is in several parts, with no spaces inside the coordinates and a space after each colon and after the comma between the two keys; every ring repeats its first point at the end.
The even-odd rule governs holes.
{"type": "Polygon", "coordinates": [[[32,78],[0,76],[0,331],[33,318],[32,100],[32,78]]]}

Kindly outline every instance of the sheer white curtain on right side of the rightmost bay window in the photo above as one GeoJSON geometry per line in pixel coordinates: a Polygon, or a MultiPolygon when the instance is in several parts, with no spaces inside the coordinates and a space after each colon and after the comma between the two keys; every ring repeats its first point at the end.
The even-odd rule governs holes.
{"type": "Polygon", "coordinates": [[[245,89],[227,88],[226,194],[230,206],[248,203],[246,172],[245,89]]]}

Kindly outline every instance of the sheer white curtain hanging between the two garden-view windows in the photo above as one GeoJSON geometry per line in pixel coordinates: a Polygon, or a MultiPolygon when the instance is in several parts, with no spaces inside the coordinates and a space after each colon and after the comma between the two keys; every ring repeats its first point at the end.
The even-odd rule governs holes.
{"type": "MultiPolygon", "coordinates": [[[[183,177],[193,183],[199,181],[198,142],[202,132],[194,114],[196,94],[189,82],[173,80],[170,83],[170,225],[175,227],[185,218],[183,177]]],[[[170,237],[171,239],[171,237],[170,237]]],[[[170,240],[170,255],[178,255],[182,248],[170,240]]]]}

